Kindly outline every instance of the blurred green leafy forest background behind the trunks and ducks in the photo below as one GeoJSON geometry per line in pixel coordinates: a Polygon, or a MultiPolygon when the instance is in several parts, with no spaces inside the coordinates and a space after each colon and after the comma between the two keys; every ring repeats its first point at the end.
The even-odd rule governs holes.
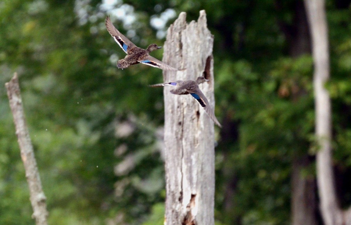
{"type": "MultiPolygon", "coordinates": [[[[49,224],[163,224],[162,71],[120,70],[106,15],[139,47],[162,45],[180,12],[214,34],[217,224],[290,224],[294,157],[315,179],[312,59],[284,28],[299,0],[0,2],[0,224],[33,224],[5,90],[17,71],[49,224]]],[[[351,201],[350,1],[326,1],[338,195],[351,201]]],[[[307,40],[307,39],[306,39],[307,40]]],[[[308,49],[308,48],[307,48],[308,49]]],[[[152,53],[162,58],[162,51],[152,53]]]]}

